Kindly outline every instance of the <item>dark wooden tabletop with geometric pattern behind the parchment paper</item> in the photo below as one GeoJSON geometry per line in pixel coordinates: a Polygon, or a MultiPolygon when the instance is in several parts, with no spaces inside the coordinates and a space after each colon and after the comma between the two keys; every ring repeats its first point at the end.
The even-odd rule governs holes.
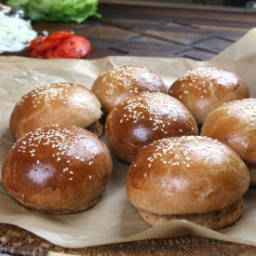
{"type": "MultiPolygon", "coordinates": [[[[98,12],[99,20],[33,27],[39,34],[73,30],[86,36],[93,47],[85,58],[90,60],[130,55],[208,61],[256,26],[256,13],[243,11],[100,4],[98,12]]],[[[29,51],[3,55],[29,57],[29,51]]]]}

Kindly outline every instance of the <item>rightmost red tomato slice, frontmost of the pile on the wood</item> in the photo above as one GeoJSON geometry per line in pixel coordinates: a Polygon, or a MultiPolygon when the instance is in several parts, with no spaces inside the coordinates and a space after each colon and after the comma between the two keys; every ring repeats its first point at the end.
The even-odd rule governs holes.
{"type": "Polygon", "coordinates": [[[62,49],[70,58],[82,58],[91,51],[91,46],[85,37],[73,35],[70,38],[63,39],[62,49]]]}

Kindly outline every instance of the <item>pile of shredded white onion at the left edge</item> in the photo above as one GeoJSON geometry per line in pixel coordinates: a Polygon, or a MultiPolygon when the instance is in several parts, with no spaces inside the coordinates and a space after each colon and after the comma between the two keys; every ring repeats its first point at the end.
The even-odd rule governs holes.
{"type": "Polygon", "coordinates": [[[0,54],[20,51],[28,47],[36,36],[30,20],[0,16],[0,54]]]}

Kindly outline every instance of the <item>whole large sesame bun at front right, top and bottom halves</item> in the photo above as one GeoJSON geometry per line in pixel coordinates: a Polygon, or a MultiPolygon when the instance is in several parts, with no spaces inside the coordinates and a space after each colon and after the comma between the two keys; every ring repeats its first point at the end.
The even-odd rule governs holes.
{"type": "Polygon", "coordinates": [[[127,195],[152,226],[173,219],[218,230],[243,213],[249,171],[234,150],[200,136],[155,141],[135,156],[127,195]]]}

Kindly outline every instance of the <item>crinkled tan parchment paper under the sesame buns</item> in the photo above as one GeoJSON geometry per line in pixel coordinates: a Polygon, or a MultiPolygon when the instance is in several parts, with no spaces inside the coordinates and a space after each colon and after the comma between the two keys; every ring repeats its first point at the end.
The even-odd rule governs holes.
{"type": "MultiPolygon", "coordinates": [[[[91,88],[103,71],[124,64],[145,66],[159,74],[167,87],[180,75],[202,66],[216,66],[240,74],[248,83],[250,97],[256,97],[256,30],[252,29],[210,61],[109,57],[95,61],[34,60],[0,57],[0,164],[14,141],[8,130],[9,115],[20,97],[33,88],[54,81],[66,81],[91,88]]],[[[105,137],[102,137],[105,141],[105,137]]],[[[105,141],[106,142],[106,141],[105,141]]],[[[18,225],[63,247],[86,247],[145,238],[206,236],[256,245],[256,190],[245,195],[242,218],[221,231],[211,231],[192,222],[171,221],[151,228],[128,202],[125,190],[128,164],[113,157],[113,175],[91,209],[68,215],[54,215],[26,209],[7,195],[0,180],[0,222],[18,225]]]]}

